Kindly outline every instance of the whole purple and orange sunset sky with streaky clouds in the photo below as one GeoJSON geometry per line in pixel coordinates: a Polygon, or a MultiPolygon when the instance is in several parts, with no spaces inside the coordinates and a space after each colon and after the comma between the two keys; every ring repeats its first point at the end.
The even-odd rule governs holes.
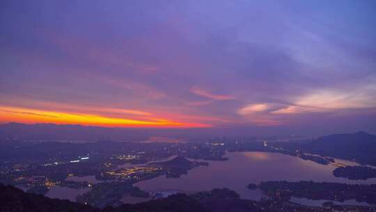
{"type": "Polygon", "coordinates": [[[376,132],[376,1],[1,1],[0,123],[376,132]]]}

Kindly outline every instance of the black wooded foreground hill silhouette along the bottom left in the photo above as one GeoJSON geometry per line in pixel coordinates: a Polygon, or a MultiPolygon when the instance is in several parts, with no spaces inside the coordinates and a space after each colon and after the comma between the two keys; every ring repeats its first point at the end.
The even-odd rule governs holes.
{"type": "MultiPolygon", "coordinates": [[[[1,212],[50,212],[50,211],[72,211],[72,212],[205,212],[214,211],[211,208],[217,208],[226,205],[219,211],[228,211],[228,206],[237,204],[239,195],[236,192],[228,189],[216,189],[210,192],[200,192],[197,195],[171,195],[164,199],[155,199],[149,202],[139,204],[124,204],[122,206],[113,208],[108,206],[104,209],[93,208],[92,206],[70,202],[68,200],[50,199],[42,195],[36,195],[23,192],[11,185],[3,185],[0,183],[0,211],[1,212]],[[203,199],[203,201],[201,201],[203,199]],[[233,200],[236,202],[231,203],[233,200]]],[[[240,204],[237,207],[242,207],[240,204]]],[[[246,205],[246,208],[256,209],[256,206],[251,204],[246,205]]],[[[215,210],[218,211],[218,210],[215,210]]],[[[256,210],[259,211],[259,210],[256,210]]]]}

